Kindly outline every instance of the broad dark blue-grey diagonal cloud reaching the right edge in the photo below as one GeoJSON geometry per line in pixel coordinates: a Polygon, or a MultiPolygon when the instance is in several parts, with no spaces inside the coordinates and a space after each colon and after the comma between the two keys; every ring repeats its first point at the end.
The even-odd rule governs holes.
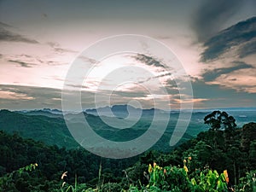
{"type": "Polygon", "coordinates": [[[256,53],[256,17],[241,21],[218,35],[210,38],[204,46],[201,61],[212,61],[229,51],[232,47],[238,49],[237,55],[244,57],[256,53]]]}

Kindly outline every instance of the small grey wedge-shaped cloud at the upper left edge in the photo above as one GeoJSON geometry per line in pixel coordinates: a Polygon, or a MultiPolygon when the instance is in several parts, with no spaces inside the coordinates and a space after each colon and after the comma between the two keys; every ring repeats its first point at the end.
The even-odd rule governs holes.
{"type": "Polygon", "coordinates": [[[8,42],[23,42],[27,44],[38,44],[38,41],[26,38],[18,33],[11,32],[6,28],[9,27],[8,24],[0,22],[0,41],[8,41],[8,42]]]}

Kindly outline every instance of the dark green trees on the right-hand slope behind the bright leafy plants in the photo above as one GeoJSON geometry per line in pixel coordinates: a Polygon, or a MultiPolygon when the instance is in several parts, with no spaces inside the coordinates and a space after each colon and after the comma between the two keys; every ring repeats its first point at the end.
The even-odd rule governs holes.
{"type": "MultiPolygon", "coordinates": [[[[250,124],[252,130],[256,130],[256,124],[250,124]]],[[[242,135],[244,129],[236,129],[236,131],[206,131],[201,132],[196,138],[188,143],[183,143],[177,149],[169,154],[161,154],[155,159],[160,166],[175,165],[178,166],[182,162],[182,158],[191,156],[193,163],[191,168],[203,169],[209,166],[218,172],[227,169],[230,174],[230,183],[238,184],[239,177],[244,177],[246,172],[253,170],[256,166],[256,140],[250,136],[250,146],[247,150],[241,147],[242,135]],[[180,159],[178,159],[178,157],[180,159]],[[177,162],[179,160],[179,162],[177,162]]]]}

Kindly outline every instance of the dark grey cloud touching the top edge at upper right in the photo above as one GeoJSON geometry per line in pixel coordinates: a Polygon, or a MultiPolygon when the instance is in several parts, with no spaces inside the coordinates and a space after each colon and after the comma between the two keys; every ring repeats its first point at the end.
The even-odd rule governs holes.
{"type": "Polygon", "coordinates": [[[235,14],[243,3],[241,0],[205,0],[202,2],[193,17],[192,23],[200,42],[206,41],[218,32],[222,24],[235,14]]]}

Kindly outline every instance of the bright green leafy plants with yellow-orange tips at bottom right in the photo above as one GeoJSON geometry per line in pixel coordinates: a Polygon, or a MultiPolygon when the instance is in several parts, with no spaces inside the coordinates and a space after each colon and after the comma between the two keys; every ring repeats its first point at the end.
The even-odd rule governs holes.
{"type": "Polygon", "coordinates": [[[228,191],[224,173],[209,169],[194,172],[189,171],[188,166],[191,157],[184,160],[183,167],[156,165],[148,166],[149,182],[146,187],[139,189],[137,186],[130,187],[129,191],[176,191],[176,192],[221,192],[228,191]]]}

